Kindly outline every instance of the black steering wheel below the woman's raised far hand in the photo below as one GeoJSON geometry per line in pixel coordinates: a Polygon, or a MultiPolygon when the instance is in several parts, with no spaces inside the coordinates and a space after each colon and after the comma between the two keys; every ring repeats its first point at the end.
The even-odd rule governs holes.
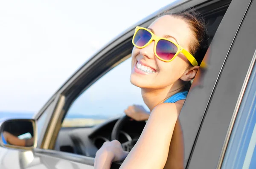
{"type": "MultiPolygon", "coordinates": [[[[131,117],[128,117],[128,116],[123,116],[121,118],[119,118],[117,121],[116,121],[116,124],[115,126],[113,127],[113,130],[112,130],[112,133],[111,133],[111,141],[112,140],[118,140],[119,139],[119,134],[120,134],[120,131],[122,129],[122,126],[130,121],[130,120],[133,120],[131,117]]],[[[136,139],[132,139],[132,140],[129,140],[125,143],[122,143],[122,148],[124,151],[127,151],[127,152],[130,152],[131,149],[134,147],[134,145],[136,144],[138,138],[136,139]]]]}

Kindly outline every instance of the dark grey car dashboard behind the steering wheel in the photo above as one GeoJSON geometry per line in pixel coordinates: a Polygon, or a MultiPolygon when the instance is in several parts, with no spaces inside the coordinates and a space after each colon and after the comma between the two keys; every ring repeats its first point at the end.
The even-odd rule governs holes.
{"type": "MultiPolygon", "coordinates": [[[[61,128],[55,142],[55,150],[95,157],[102,144],[111,141],[111,132],[118,119],[110,119],[93,127],[61,128]]],[[[119,133],[119,142],[125,143],[139,138],[145,124],[145,121],[125,122],[119,133]]]]}

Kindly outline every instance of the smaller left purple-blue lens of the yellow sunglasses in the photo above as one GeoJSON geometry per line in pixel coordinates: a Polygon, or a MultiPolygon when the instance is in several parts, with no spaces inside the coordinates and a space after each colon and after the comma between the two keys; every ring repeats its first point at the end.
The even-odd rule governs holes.
{"type": "Polygon", "coordinates": [[[146,43],[148,43],[148,41],[150,39],[151,39],[151,34],[148,31],[144,30],[144,29],[140,29],[134,35],[134,44],[136,46],[142,47],[146,43]]]}

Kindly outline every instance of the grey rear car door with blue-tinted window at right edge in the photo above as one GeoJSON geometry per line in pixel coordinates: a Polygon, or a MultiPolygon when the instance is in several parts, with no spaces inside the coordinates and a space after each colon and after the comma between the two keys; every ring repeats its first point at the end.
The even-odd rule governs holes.
{"type": "MultiPolygon", "coordinates": [[[[256,160],[255,155],[252,156],[255,140],[252,137],[253,128],[250,126],[255,125],[255,119],[253,120],[252,116],[255,111],[255,97],[253,96],[255,88],[252,88],[252,85],[255,86],[253,80],[255,79],[256,57],[256,1],[246,1],[248,6],[244,6],[242,4],[244,2],[240,2],[241,4],[235,11],[239,13],[242,7],[248,10],[227,54],[220,78],[213,91],[214,94],[207,106],[189,159],[188,169],[255,168],[255,163],[250,163],[256,160]],[[242,117],[250,117],[250,119],[241,120],[242,117]],[[252,140],[252,146],[249,147],[250,153],[248,154],[250,140],[252,140]],[[245,157],[246,155],[248,156],[245,157]]],[[[233,13],[234,18],[236,18],[236,12],[233,13]]],[[[230,24],[227,28],[230,26],[232,25],[230,24]]]]}

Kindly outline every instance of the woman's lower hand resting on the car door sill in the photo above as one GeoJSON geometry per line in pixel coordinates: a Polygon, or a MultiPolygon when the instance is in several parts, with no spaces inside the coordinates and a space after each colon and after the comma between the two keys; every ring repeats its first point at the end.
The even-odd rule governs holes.
{"type": "Polygon", "coordinates": [[[113,161],[120,161],[126,158],[128,152],[123,151],[118,140],[103,143],[102,147],[96,152],[94,167],[95,169],[110,169],[113,161]]]}

